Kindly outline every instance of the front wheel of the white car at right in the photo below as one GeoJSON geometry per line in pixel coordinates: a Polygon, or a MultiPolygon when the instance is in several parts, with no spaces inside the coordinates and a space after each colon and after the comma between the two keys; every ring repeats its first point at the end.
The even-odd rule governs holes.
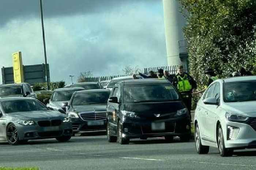
{"type": "Polygon", "coordinates": [[[231,156],[233,154],[234,150],[231,148],[225,147],[225,142],[224,142],[224,138],[223,138],[221,125],[219,125],[219,127],[218,127],[217,140],[218,140],[217,142],[218,142],[219,154],[221,156],[231,156]]]}

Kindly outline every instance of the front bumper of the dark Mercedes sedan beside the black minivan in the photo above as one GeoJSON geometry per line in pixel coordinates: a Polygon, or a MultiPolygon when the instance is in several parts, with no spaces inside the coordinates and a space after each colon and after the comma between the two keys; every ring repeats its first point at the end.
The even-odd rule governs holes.
{"type": "Polygon", "coordinates": [[[81,131],[106,131],[106,119],[83,121],[80,118],[72,118],[71,121],[74,133],[81,131]]]}

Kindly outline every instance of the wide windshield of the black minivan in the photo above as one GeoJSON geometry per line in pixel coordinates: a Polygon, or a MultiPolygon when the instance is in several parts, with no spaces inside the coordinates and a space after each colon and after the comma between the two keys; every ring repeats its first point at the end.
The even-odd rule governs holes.
{"type": "Polygon", "coordinates": [[[179,95],[170,83],[132,84],[124,87],[125,102],[175,101],[179,95]]]}

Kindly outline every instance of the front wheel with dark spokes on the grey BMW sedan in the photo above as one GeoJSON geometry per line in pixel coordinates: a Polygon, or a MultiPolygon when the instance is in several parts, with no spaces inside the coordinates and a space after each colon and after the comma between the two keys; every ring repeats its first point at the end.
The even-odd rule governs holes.
{"type": "Polygon", "coordinates": [[[16,129],[16,126],[13,123],[11,123],[7,126],[6,136],[7,136],[7,140],[8,140],[9,144],[11,144],[11,145],[20,144],[18,131],[16,129]]]}

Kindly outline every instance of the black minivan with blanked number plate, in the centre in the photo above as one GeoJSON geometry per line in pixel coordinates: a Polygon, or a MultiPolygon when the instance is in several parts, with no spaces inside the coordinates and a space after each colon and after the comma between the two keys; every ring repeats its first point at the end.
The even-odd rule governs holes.
{"type": "Polygon", "coordinates": [[[137,79],[120,82],[107,105],[108,141],[174,136],[188,141],[191,123],[187,108],[168,80],[137,79]]]}

